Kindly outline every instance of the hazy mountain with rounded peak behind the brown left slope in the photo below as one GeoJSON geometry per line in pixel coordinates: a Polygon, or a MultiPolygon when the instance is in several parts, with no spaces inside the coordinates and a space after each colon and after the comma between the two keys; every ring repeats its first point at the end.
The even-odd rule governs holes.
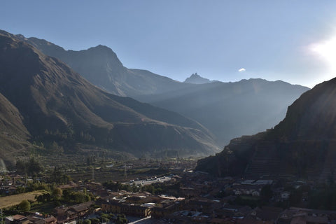
{"type": "Polygon", "coordinates": [[[76,51],[64,50],[54,43],[34,37],[25,38],[19,34],[16,38],[33,45],[45,55],[57,57],[90,83],[119,96],[136,98],[139,95],[158,94],[188,85],[150,71],[127,69],[116,53],[104,45],[76,51]]]}

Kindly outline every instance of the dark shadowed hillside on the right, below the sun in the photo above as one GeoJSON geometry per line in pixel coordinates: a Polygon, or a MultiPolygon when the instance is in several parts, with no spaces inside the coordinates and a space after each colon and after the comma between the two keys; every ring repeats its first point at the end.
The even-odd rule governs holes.
{"type": "Polygon", "coordinates": [[[232,139],[197,169],[218,176],[335,179],[336,78],[316,85],[288,107],[274,129],[232,139]]]}

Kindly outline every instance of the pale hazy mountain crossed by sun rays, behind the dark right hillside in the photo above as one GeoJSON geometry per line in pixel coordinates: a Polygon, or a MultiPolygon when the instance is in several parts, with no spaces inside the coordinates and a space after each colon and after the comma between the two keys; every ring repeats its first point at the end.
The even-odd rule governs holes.
{"type": "Polygon", "coordinates": [[[280,80],[257,78],[192,85],[138,99],[197,120],[225,146],[230,139],[262,132],[279,123],[287,106],[307,90],[280,80]]]}

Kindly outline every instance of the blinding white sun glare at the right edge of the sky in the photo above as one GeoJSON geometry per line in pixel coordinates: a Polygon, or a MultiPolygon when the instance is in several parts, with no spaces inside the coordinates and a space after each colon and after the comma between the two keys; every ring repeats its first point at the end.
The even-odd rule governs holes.
{"type": "Polygon", "coordinates": [[[328,64],[331,72],[336,72],[336,36],[328,41],[311,45],[311,51],[328,64]]]}

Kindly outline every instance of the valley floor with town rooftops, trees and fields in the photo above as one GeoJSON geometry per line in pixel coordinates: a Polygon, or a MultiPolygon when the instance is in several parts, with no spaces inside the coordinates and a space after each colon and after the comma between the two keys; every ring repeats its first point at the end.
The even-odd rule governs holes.
{"type": "MultiPolygon", "coordinates": [[[[205,172],[193,172],[193,159],[133,160],[103,165],[54,168],[31,179],[3,173],[1,193],[12,194],[0,197],[3,214],[7,219],[13,219],[14,214],[29,219],[37,217],[38,212],[55,217],[58,223],[66,220],[79,224],[89,220],[94,224],[258,224],[290,223],[297,218],[306,223],[336,222],[333,181],[320,184],[290,178],[215,178],[205,172]],[[78,173],[87,179],[80,179],[78,173]],[[118,179],[111,179],[113,175],[102,178],[109,173],[118,179]],[[97,176],[102,181],[97,181],[97,176]],[[43,190],[16,194],[15,188],[43,190]],[[29,201],[31,213],[15,206],[22,200],[29,201]]],[[[37,218],[45,220],[45,216],[37,218]]]]}

